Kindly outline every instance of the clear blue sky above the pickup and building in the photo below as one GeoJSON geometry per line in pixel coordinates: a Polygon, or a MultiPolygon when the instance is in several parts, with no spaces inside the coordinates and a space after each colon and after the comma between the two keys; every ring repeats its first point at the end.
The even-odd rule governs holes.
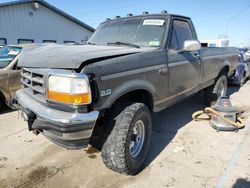
{"type": "MultiPolygon", "coordinates": [[[[0,0],[0,2],[7,2],[0,0]]],[[[227,36],[230,46],[250,46],[250,0],[47,0],[96,28],[106,18],[143,11],[191,17],[199,39],[227,36]]]]}

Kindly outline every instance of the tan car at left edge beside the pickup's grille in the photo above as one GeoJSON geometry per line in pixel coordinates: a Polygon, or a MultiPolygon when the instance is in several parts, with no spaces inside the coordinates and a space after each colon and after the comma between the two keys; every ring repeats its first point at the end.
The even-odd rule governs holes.
{"type": "Polygon", "coordinates": [[[17,67],[22,50],[31,49],[34,44],[4,46],[0,49],[0,111],[7,104],[12,107],[12,99],[21,88],[21,70],[17,67]]]}

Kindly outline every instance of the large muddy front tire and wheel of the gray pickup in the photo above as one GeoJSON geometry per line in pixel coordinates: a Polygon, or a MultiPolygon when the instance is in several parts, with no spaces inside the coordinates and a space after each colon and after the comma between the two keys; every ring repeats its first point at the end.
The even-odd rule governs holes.
{"type": "Polygon", "coordinates": [[[151,113],[142,103],[127,106],[114,118],[114,128],[102,148],[111,170],[135,175],[143,168],[152,134],[151,113]]]}

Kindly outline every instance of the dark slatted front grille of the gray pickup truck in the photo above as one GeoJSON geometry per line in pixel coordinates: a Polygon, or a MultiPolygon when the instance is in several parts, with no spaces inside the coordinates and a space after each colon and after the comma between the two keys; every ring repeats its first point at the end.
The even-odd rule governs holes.
{"type": "Polygon", "coordinates": [[[45,76],[31,69],[22,69],[21,82],[26,92],[40,100],[45,99],[45,76]]]}

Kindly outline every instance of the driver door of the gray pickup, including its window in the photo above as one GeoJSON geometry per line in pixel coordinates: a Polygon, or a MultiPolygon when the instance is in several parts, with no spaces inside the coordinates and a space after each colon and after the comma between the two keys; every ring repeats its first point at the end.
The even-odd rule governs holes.
{"type": "Polygon", "coordinates": [[[199,51],[181,51],[186,40],[197,40],[192,23],[173,19],[168,50],[169,95],[183,98],[198,89],[201,65],[199,51]]]}

